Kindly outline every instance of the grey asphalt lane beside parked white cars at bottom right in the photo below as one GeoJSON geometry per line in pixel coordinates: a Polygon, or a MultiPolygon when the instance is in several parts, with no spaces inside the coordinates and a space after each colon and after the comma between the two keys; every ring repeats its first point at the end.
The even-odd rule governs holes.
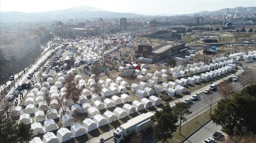
{"type": "MultiPolygon", "coordinates": [[[[212,137],[212,134],[215,131],[221,131],[220,129],[221,129],[220,125],[216,125],[212,121],[210,121],[208,124],[206,124],[204,127],[202,127],[199,131],[197,131],[195,134],[193,134],[190,138],[188,138],[187,141],[185,141],[184,143],[203,142],[206,138],[212,137]]],[[[222,134],[223,134],[223,132],[222,132],[222,134]]],[[[222,138],[222,137],[220,137],[220,138],[222,138]]]]}

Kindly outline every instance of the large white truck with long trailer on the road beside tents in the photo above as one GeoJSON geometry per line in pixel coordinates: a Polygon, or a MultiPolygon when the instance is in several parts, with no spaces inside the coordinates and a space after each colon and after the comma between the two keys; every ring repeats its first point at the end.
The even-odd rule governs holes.
{"type": "Polygon", "coordinates": [[[154,116],[154,113],[143,113],[131,120],[128,120],[127,123],[119,126],[113,133],[114,142],[123,142],[133,133],[139,135],[144,133],[147,129],[154,127],[154,121],[151,120],[152,116],[154,116]]]}

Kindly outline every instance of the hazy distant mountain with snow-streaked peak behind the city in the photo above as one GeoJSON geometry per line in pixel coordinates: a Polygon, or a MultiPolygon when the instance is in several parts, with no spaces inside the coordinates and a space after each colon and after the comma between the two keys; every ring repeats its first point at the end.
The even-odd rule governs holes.
{"type": "Polygon", "coordinates": [[[76,6],[69,9],[55,10],[50,12],[0,12],[1,22],[4,21],[53,21],[68,20],[68,19],[93,19],[93,18],[136,18],[143,15],[134,13],[119,13],[109,12],[103,9],[98,9],[88,6],[76,6]]]}

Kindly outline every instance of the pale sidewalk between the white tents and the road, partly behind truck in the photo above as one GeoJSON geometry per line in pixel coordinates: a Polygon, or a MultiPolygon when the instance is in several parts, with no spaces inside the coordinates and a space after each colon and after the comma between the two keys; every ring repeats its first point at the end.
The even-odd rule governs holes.
{"type": "MultiPolygon", "coordinates": [[[[240,66],[238,66],[238,71],[237,71],[237,73],[240,74],[242,71],[244,71],[244,70],[243,70],[240,66]]],[[[228,75],[228,76],[225,77],[225,78],[229,78],[229,77],[233,77],[233,76],[234,76],[234,75],[228,75]]],[[[217,80],[215,83],[220,83],[220,82],[222,82],[222,81],[223,81],[223,78],[220,79],[220,80],[217,80]]],[[[209,89],[209,86],[210,86],[210,84],[209,84],[209,85],[206,85],[206,86],[204,86],[203,88],[198,89],[198,90],[196,90],[196,91],[194,91],[194,92],[191,92],[190,95],[183,96],[182,98],[179,98],[179,99],[177,99],[177,100],[175,100],[175,101],[169,103],[169,105],[172,107],[172,106],[175,105],[176,102],[183,102],[185,99],[190,98],[191,95],[201,94],[201,93],[204,92],[206,89],[209,89]]],[[[159,110],[161,110],[161,108],[157,108],[156,110],[159,111],[159,110]]],[[[192,119],[193,119],[193,118],[191,118],[191,120],[192,120],[192,119]]],[[[183,123],[183,124],[184,124],[184,123],[183,123]]],[[[99,135],[99,136],[96,137],[96,138],[93,138],[93,139],[91,139],[91,140],[89,140],[89,141],[86,141],[85,143],[99,143],[101,138],[103,138],[104,140],[108,140],[109,138],[113,138],[113,133],[114,133],[114,131],[115,131],[115,129],[112,129],[112,130],[109,131],[109,132],[110,132],[110,135],[109,135],[109,132],[106,132],[106,133],[104,133],[104,134],[99,135]]]]}

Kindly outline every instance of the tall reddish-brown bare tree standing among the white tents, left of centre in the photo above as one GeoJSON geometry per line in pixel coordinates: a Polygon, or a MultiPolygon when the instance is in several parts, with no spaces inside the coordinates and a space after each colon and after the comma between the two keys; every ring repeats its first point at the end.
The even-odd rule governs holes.
{"type": "Polygon", "coordinates": [[[66,75],[65,77],[66,79],[66,84],[67,84],[67,88],[66,88],[66,98],[67,99],[72,99],[75,102],[75,99],[78,98],[83,89],[79,88],[78,82],[73,80],[73,75],[71,73],[69,73],[69,75],[66,75]]]}

